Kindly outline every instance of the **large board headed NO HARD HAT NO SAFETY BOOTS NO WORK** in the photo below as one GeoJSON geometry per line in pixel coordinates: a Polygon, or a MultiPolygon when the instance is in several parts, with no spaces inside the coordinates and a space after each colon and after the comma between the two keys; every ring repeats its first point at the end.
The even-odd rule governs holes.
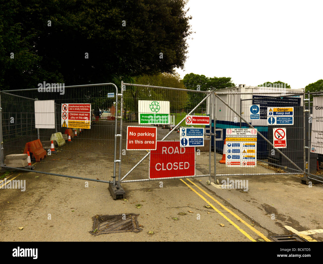
{"type": "Polygon", "coordinates": [[[257,129],[226,129],[226,167],[257,166],[257,129]]]}

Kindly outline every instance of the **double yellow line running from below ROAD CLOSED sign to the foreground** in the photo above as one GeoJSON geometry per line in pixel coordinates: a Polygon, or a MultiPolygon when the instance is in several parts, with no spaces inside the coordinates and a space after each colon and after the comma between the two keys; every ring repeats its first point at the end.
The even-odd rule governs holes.
{"type": "MultiPolygon", "coordinates": [[[[253,239],[249,234],[247,234],[247,232],[245,232],[242,228],[240,228],[238,225],[236,225],[232,220],[230,220],[228,217],[226,217],[220,210],[218,210],[217,208],[214,207],[214,205],[212,203],[210,203],[208,200],[206,200],[206,198],[200,194],[199,192],[197,192],[195,189],[192,188],[191,185],[189,185],[186,181],[183,181],[182,179],[180,179],[182,182],[184,182],[193,192],[195,192],[198,196],[200,196],[207,204],[209,204],[217,213],[219,213],[225,220],[227,220],[230,224],[232,224],[237,230],[239,230],[242,234],[244,234],[249,240],[253,241],[253,242],[257,242],[255,239],[253,239]]],[[[197,187],[200,191],[202,191],[205,195],[207,195],[208,197],[210,197],[212,200],[214,200],[218,205],[220,205],[224,210],[226,210],[227,212],[229,212],[230,214],[232,214],[237,220],[239,220],[241,223],[245,224],[246,227],[248,227],[250,230],[252,230],[253,232],[255,232],[258,236],[260,236],[263,240],[267,241],[267,242],[271,242],[271,240],[269,240],[264,234],[262,234],[261,232],[259,232],[258,230],[256,230],[253,226],[249,225],[246,221],[244,221],[243,219],[241,219],[239,216],[237,216],[233,211],[231,211],[230,209],[226,208],[222,203],[220,203],[218,200],[216,200],[213,196],[209,195],[207,192],[205,192],[204,190],[202,190],[199,186],[197,186],[194,182],[192,182],[190,179],[186,179],[187,181],[189,181],[190,183],[192,183],[195,187],[197,187]]]]}

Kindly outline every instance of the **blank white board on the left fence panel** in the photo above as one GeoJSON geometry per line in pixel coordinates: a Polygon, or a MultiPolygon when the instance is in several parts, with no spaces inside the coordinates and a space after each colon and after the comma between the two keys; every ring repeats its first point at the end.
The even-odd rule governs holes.
{"type": "Polygon", "coordinates": [[[35,128],[55,128],[54,100],[35,101],[35,128]]]}

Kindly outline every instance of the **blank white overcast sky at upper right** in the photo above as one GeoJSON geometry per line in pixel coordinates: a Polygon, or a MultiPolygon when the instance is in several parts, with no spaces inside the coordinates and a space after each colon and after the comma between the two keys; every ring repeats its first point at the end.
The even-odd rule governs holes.
{"type": "Polygon", "coordinates": [[[189,0],[184,71],[256,86],[323,79],[323,1],[189,0]]]}

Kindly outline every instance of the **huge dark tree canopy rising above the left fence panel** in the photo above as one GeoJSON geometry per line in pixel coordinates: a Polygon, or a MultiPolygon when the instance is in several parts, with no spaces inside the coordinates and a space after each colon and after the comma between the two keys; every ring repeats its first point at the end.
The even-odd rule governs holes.
{"type": "Polygon", "coordinates": [[[120,82],[125,76],[171,73],[175,67],[183,68],[186,38],[192,33],[191,17],[184,10],[186,3],[187,0],[5,3],[0,25],[5,44],[1,48],[1,88],[36,88],[43,81],[77,85],[118,78],[120,82]],[[15,61],[14,66],[10,65],[10,52],[21,53],[24,63],[15,61]]]}

